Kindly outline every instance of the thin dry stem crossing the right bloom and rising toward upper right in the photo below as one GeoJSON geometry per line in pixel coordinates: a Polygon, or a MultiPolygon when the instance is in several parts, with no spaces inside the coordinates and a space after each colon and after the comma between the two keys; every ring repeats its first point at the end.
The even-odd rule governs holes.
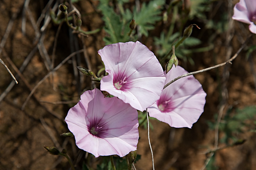
{"type": "Polygon", "coordinates": [[[194,74],[198,74],[198,73],[203,73],[204,71],[209,71],[209,70],[212,70],[214,68],[218,68],[218,67],[221,67],[223,65],[226,65],[226,64],[232,64],[231,62],[236,59],[236,57],[238,56],[238,54],[240,53],[240,51],[245,47],[246,43],[248,42],[248,40],[250,39],[250,37],[252,36],[252,34],[250,34],[250,36],[247,38],[247,40],[245,40],[245,42],[243,43],[243,45],[237,50],[236,54],[231,57],[231,59],[227,60],[226,62],[224,63],[221,63],[221,64],[218,64],[218,65],[215,65],[215,66],[212,66],[212,67],[209,67],[209,68],[205,68],[203,70],[198,70],[198,71],[194,71],[194,72],[190,72],[190,73],[187,73],[187,74],[183,74],[182,76],[179,76],[179,77],[176,77],[175,79],[171,80],[170,82],[168,82],[164,87],[163,89],[165,89],[166,87],[168,87],[171,83],[175,82],[176,80],[179,80],[181,79],[182,77],[187,77],[187,76],[191,76],[191,75],[194,75],[194,74]]]}

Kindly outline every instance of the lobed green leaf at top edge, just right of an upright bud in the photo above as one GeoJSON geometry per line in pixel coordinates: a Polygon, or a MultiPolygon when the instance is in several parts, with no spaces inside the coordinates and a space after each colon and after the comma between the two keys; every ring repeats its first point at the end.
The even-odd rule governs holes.
{"type": "Polygon", "coordinates": [[[147,5],[143,3],[140,12],[134,8],[134,20],[141,34],[148,36],[148,30],[154,29],[155,22],[162,19],[159,14],[164,4],[165,0],[152,0],[147,5]]]}

